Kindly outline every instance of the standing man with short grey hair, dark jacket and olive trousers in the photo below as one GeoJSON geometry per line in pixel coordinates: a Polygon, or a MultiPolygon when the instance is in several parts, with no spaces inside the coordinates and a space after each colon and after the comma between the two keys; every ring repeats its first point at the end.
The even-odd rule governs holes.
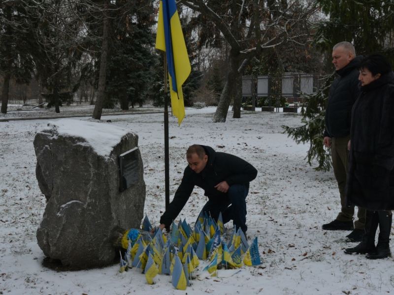
{"type": "Polygon", "coordinates": [[[354,207],[345,207],[351,113],[360,94],[357,65],[361,59],[362,56],[356,57],[356,51],[349,42],[340,42],[332,49],[332,63],[338,77],[329,89],[323,140],[323,144],[331,148],[332,167],[341,197],[341,212],[334,221],[323,224],[322,228],[327,231],[353,230],[347,236],[353,242],[361,241],[365,225],[365,209],[358,208],[358,220],[353,225],[354,207]]]}

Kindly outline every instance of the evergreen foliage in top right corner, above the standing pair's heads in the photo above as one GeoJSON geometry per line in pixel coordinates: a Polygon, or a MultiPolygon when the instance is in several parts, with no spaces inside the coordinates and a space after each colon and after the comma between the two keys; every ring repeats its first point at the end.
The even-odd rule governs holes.
{"type": "Polygon", "coordinates": [[[322,50],[342,41],[352,42],[357,54],[380,52],[394,62],[393,0],[315,0],[328,17],[317,24],[315,43],[322,50]]]}

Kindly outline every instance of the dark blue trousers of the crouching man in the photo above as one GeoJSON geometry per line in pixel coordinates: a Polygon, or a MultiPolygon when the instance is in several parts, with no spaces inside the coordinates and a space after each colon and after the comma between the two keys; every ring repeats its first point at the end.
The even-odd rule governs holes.
{"type": "Polygon", "coordinates": [[[246,196],[249,193],[249,188],[245,185],[234,184],[231,185],[228,191],[228,199],[226,202],[214,203],[206,202],[201,212],[206,212],[213,219],[218,220],[220,212],[222,212],[223,223],[226,224],[232,220],[233,225],[237,230],[246,233],[248,227],[246,226],[246,196]]]}

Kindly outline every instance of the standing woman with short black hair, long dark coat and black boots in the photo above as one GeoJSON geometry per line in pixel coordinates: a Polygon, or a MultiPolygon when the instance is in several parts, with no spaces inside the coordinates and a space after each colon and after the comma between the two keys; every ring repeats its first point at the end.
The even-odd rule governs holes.
{"type": "Polygon", "coordinates": [[[394,209],[394,73],[389,61],[372,54],[360,61],[361,94],[352,110],[346,206],[366,209],[362,241],[347,254],[391,256],[394,209]],[[378,243],[375,234],[379,225],[378,243]]]}

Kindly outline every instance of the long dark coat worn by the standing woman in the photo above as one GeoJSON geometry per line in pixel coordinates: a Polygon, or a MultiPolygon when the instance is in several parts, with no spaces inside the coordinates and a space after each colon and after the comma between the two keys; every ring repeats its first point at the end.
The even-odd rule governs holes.
{"type": "Polygon", "coordinates": [[[394,73],[360,89],[352,109],[346,205],[393,210],[394,73]]]}

